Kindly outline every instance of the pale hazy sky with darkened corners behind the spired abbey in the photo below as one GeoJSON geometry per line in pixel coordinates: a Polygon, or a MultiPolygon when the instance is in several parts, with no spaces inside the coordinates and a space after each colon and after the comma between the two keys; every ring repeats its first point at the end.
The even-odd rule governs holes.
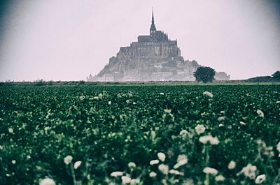
{"type": "Polygon", "coordinates": [[[29,0],[0,3],[0,81],[85,80],[155,26],[184,59],[231,79],[280,70],[280,1],[29,0]]]}

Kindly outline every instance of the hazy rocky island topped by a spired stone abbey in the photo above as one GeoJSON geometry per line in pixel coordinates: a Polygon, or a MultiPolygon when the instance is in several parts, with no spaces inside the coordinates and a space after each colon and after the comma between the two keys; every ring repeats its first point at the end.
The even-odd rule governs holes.
{"type": "MultiPolygon", "coordinates": [[[[181,57],[177,40],[169,40],[168,34],[156,29],[152,13],[150,35],[138,36],[137,42],[120,47],[116,57],[111,57],[109,64],[94,77],[87,77],[87,81],[194,81],[193,73],[198,67],[197,61],[181,57]]],[[[230,75],[216,72],[215,79],[230,80],[230,75]]]]}

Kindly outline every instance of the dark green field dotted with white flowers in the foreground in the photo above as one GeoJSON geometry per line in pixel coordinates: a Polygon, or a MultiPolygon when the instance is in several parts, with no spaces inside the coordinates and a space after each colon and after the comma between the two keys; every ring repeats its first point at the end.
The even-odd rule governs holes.
{"type": "Polygon", "coordinates": [[[280,184],[279,85],[0,95],[0,184],[280,184]]]}

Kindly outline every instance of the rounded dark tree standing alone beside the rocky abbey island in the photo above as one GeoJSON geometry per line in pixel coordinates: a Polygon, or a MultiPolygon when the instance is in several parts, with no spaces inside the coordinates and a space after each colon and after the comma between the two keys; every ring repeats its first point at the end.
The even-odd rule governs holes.
{"type": "Polygon", "coordinates": [[[215,70],[210,67],[199,67],[197,68],[197,71],[193,73],[195,76],[195,80],[197,82],[213,82],[214,80],[214,75],[215,75],[215,70]]]}

